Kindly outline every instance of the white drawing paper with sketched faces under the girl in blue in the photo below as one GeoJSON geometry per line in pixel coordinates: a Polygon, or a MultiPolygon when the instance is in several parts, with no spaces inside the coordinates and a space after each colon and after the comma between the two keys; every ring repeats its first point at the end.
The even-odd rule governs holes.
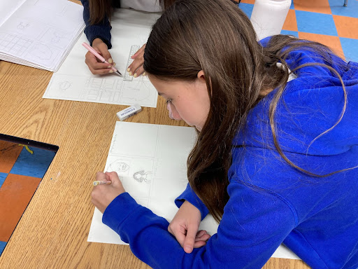
{"type": "MultiPolygon", "coordinates": [[[[124,189],[158,216],[171,221],[178,211],[174,200],[187,186],[187,156],[196,139],[194,127],[117,122],[104,171],[115,171],[124,189]]],[[[201,230],[217,233],[211,215],[201,222],[201,230]]],[[[125,244],[94,209],[89,242],[125,244]]],[[[276,258],[298,258],[284,246],[276,258]]]]}

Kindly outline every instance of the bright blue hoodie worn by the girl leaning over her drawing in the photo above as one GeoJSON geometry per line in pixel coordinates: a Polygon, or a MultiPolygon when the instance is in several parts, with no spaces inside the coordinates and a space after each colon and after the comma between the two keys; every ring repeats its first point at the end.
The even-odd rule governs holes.
{"type": "MultiPolygon", "coordinates": [[[[304,49],[287,60],[290,69],[322,61],[304,49]]],[[[275,114],[282,151],[316,174],[358,165],[358,64],[341,68],[336,64],[342,61],[335,61],[348,92],[341,123],[310,145],[336,123],[343,108],[341,82],[322,67],[300,69],[298,78],[287,83],[275,114]]],[[[262,268],[282,242],[312,268],[358,268],[358,169],[317,178],[282,160],[268,122],[274,93],[250,111],[245,133],[234,139],[229,202],[206,246],[186,254],[168,232],[168,221],[138,205],[129,193],[108,205],[103,223],[153,268],[262,268]]],[[[189,186],[176,204],[183,200],[202,217],[208,214],[189,186]]]]}

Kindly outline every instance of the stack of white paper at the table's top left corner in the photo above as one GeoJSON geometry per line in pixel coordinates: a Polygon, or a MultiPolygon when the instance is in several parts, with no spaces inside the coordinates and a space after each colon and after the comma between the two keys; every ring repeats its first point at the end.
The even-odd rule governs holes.
{"type": "Polygon", "coordinates": [[[0,1],[0,60],[57,71],[84,27],[70,1],[0,1]]]}

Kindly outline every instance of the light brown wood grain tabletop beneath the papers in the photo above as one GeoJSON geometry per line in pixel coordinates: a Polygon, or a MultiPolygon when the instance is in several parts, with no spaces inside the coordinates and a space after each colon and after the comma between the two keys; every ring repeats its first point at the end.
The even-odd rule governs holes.
{"type": "MultiPolygon", "coordinates": [[[[43,99],[51,76],[0,62],[0,132],[59,146],[0,257],[0,268],[150,268],[128,246],[87,242],[94,211],[92,181],[104,169],[115,113],[126,106],[43,99]]],[[[169,119],[161,97],[156,109],[145,107],[127,121],[185,125],[169,119]]],[[[271,258],[264,268],[308,266],[271,258]]]]}

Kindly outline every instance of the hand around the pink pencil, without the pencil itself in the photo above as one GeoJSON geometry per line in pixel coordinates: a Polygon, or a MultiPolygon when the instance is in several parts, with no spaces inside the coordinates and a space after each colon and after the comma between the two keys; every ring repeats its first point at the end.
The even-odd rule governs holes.
{"type": "Polygon", "coordinates": [[[88,68],[94,75],[103,75],[112,73],[113,70],[111,68],[111,64],[115,67],[115,62],[112,60],[112,56],[108,51],[107,44],[102,41],[102,39],[94,39],[92,42],[92,48],[96,50],[97,53],[103,56],[104,59],[107,60],[110,64],[106,64],[101,62],[89,51],[86,53],[86,60],[85,63],[87,64],[88,68]]]}

